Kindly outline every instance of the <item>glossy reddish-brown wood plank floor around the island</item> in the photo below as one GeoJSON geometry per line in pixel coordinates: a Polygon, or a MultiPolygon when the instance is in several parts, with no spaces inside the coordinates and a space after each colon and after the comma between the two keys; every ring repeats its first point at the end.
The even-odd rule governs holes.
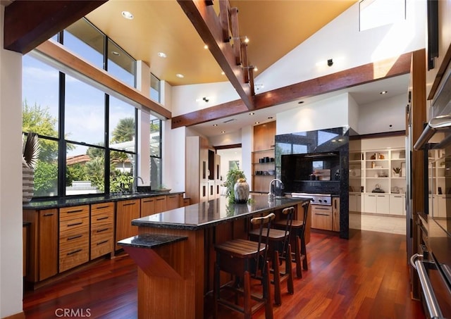
{"type": "MultiPolygon", "coordinates": [[[[424,318],[409,294],[404,235],[354,231],[346,240],[312,233],[307,252],[309,270],[295,280],[294,295],[284,288],[275,318],[424,318]]],[[[127,255],[102,261],[25,292],[23,308],[27,319],[61,318],[63,311],[71,318],[137,318],[136,265],[127,255]]],[[[221,318],[241,318],[220,311],[221,318]]],[[[254,318],[264,318],[263,311],[254,318]]]]}

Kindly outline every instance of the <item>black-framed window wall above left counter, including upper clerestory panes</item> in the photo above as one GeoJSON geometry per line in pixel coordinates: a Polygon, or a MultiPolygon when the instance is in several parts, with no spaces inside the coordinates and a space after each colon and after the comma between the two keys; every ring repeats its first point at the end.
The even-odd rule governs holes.
{"type": "MultiPolygon", "coordinates": [[[[54,39],[135,87],[135,61],[87,20],[54,39]]],[[[137,109],[29,55],[23,56],[23,132],[39,135],[35,197],[131,190],[137,109]]]]}

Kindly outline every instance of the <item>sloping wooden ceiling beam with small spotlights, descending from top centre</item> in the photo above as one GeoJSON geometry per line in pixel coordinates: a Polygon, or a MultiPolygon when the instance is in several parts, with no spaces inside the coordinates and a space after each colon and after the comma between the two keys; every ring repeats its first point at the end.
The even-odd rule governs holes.
{"type": "Polygon", "coordinates": [[[223,27],[213,6],[208,6],[204,0],[177,0],[177,2],[204,43],[209,47],[211,54],[213,54],[247,109],[252,110],[254,108],[254,96],[252,96],[249,84],[244,80],[244,72],[241,66],[237,65],[235,61],[233,47],[223,41],[223,27]]]}

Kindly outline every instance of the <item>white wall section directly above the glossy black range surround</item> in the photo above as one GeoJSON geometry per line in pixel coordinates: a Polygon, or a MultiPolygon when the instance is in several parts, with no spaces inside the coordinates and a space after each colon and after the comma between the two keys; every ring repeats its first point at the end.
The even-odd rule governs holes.
{"type": "Polygon", "coordinates": [[[349,94],[302,105],[276,115],[276,135],[348,125],[349,94]]]}

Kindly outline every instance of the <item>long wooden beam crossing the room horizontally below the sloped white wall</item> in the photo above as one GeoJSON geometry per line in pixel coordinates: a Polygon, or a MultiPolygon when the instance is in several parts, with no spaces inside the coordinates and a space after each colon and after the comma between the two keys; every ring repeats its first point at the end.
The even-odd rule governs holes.
{"type": "MultiPolygon", "coordinates": [[[[330,75],[295,83],[279,89],[257,94],[255,109],[268,108],[279,104],[305,99],[310,96],[326,94],[365,83],[382,80],[388,77],[404,75],[410,72],[412,52],[402,54],[375,63],[360,65],[330,75]]],[[[406,88],[407,94],[407,88],[406,88]]],[[[192,126],[219,118],[237,115],[249,111],[240,100],[230,101],[199,111],[174,116],[172,128],[192,126]]]]}

